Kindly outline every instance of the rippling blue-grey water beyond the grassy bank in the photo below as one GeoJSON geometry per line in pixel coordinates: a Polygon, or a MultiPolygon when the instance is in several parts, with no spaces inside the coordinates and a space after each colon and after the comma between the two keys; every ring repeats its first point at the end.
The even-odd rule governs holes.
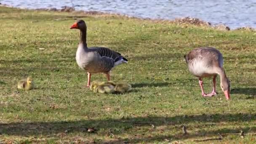
{"type": "Polygon", "coordinates": [[[0,0],[19,8],[61,8],[121,13],[151,19],[196,17],[231,28],[256,28],[256,0],[0,0]]]}

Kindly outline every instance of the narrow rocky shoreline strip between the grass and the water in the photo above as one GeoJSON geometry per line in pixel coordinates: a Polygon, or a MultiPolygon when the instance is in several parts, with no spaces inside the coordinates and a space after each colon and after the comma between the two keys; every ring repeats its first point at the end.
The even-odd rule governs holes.
{"type": "MultiPolygon", "coordinates": [[[[191,24],[195,26],[204,26],[204,27],[211,27],[213,29],[217,30],[223,30],[223,31],[229,31],[229,30],[249,30],[249,31],[256,31],[256,28],[253,27],[237,27],[235,29],[231,29],[229,26],[225,24],[212,24],[209,21],[203,21],[198,18],[194,17],[180,17],[180,18],[175,18],[173,20],[169,19],[151,19],[151,18],[140,18],[136,16],[129,16],[126,14],[121,14],[121,13],[108,13],[108,12],[101,12],[101,11],[83,11],[83,10],[75,10],[75,7],[70,7],[70,6],[62,6],[61,9],[57,8],[19,8],[19,7],[13,7],[10,5],[5,5],[0,3],[0,6],[3,7],[8,7],[8,8],[18,8],[18,9],[24,9],[24,10],[34,10],[34,11],[56,11],[56,12],[68,12],[68,13],[77,13],[77,14],[85,14],[85,15],[108,15],[108,16],[122,16],[130,19],[140,19],[140,20],[150,20],[150,21],[155,21],[155,22],[170,22],[174,24],[191,24]]],[[[84,17],[84,16],[70,16],[70,17],[84,17]]]]}

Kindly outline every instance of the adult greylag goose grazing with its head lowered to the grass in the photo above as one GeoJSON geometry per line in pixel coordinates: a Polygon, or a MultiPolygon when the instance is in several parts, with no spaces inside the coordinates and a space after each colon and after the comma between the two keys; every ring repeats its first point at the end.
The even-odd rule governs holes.
{"type": "Polygon", "coordinates": [[[221,89],[226,99],[230,99],[230,82],[223,69],[223,56],[219,50],[211,47],[195,48],[184,56],[189,71],[198,77],[202,96],[216,95],[216,76],[220,76],[221,89]],[[203,77],[213,77],[213,91],[206,94],[203,90],[203,77]]]}

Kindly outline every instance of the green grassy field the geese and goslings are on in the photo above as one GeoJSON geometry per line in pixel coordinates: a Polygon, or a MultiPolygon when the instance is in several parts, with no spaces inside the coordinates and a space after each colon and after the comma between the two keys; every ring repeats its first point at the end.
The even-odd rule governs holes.
{"type": "MultiPolygon", "coordinates": [[[[83,14],[0,7],[0,143],[256,143],[255,31],[89,15],[88,46],[129,60],[111,77],[131,83],[132,91],[107,95],[80,88],[87,75],[75,61],[79,31],[69,29],[75,20],[67,17],[73,15],[83,14]],[[201,96],[183,57],[201,46],[223,53],[231,101],[219,77],[219,95],[201,96]],[[29,75],[36,89],[19,91],[17,81],[29,75]],[[214,140],[219,134],[222,140],[214,140]]],[[[210,92],[212,80],[204,83],[210,92]]]]}

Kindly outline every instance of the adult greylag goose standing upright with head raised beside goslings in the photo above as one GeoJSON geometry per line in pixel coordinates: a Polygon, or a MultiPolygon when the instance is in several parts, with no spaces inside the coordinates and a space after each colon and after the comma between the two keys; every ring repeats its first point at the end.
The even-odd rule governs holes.
{"type": "Polygon", "coordinates": [[[76,52],[76,61],[81,69],[84,69],[88,74],[88,82],[85,87],[90,87],[91,74],[104,73],[107,75],[107,80],[110,80],[110,70],[122,63],[127,63],[128,60],[121,56],[120,53],[112,51],[104,47],[87,47],[85,21],[78,20],[70,29],[80,29],[80,42],[76,52]]]}

